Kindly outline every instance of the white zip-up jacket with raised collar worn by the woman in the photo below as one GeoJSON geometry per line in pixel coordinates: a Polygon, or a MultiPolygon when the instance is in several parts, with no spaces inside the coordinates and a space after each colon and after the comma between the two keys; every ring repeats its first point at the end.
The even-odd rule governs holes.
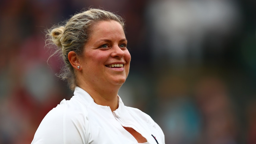
{"type": "Polygon", "coordinates": [[[123,126],[135,129],[148,144],[157,144],[154,137],[165,144],[162,129],[146,113],[124,106],[120,97],[112,113],[76,87],[70,100],[63,99],[45,116],[31,144],[138,144],[123,126]]]}

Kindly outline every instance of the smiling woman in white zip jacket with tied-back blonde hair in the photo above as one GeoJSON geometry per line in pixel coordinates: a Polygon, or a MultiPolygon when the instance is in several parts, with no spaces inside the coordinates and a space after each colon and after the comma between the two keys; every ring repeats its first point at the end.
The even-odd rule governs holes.
{"type": "Polygon", "coordinates": [[[60,47],[66,68],[59,76],[74,96],[45,116],[33,144],[165,143],[152,118],[118,96],[131,61],[120,16],[89,9],[50,29],[49,40],[60,47]]]}

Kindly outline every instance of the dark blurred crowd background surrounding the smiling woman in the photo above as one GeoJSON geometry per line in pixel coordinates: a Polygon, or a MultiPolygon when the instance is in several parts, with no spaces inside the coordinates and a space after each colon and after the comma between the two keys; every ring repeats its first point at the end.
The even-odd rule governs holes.
{"type": "Polygon", "coordinates": [[[1,0],[0,143],[31,143],[62,99],[45,29],[83,8],[126,19],[130,73],[119,95],[166,144],[256,143],[255,0],[1,0]]]}

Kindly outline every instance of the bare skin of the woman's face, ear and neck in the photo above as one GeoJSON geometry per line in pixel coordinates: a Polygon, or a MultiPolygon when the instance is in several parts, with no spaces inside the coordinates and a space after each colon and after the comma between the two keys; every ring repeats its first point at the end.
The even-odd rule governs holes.
{"type": "Polygon", "coordinates": [[[113,111],[118,107],[118,90],[128,76],[131,61],[124,30],[114,20],[101,21],[93,26],[90,36],[83,55],[69,52],[68,58],[75,68],[78,86],[97,104],[110,106],[113,111]],[[109,68],[109,64],[124,66],[109,68]]]}

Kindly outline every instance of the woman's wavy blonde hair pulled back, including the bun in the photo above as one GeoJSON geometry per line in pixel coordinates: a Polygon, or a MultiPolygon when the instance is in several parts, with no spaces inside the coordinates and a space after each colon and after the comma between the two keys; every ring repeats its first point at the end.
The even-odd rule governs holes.
{"type": "Polygon", "coordinates": [[[63,25],[53,26],[47,30],[46,46],[50,48],[52,48],[52,45],[58,47],[51,56],[58,53],[64,61],[64,66],[57,76],[62,80],[67,80],[71,90],[75,89],[77,83],[74,68],[67,58],[68,53],[74,51],[80,56],[83,53],[84,45],[90,37],[92,27],[99,21],[109,20],[117,21],[124,29],[124,19],[119,15],[105,10],[90,8],[73,15],[63,25]]]}

